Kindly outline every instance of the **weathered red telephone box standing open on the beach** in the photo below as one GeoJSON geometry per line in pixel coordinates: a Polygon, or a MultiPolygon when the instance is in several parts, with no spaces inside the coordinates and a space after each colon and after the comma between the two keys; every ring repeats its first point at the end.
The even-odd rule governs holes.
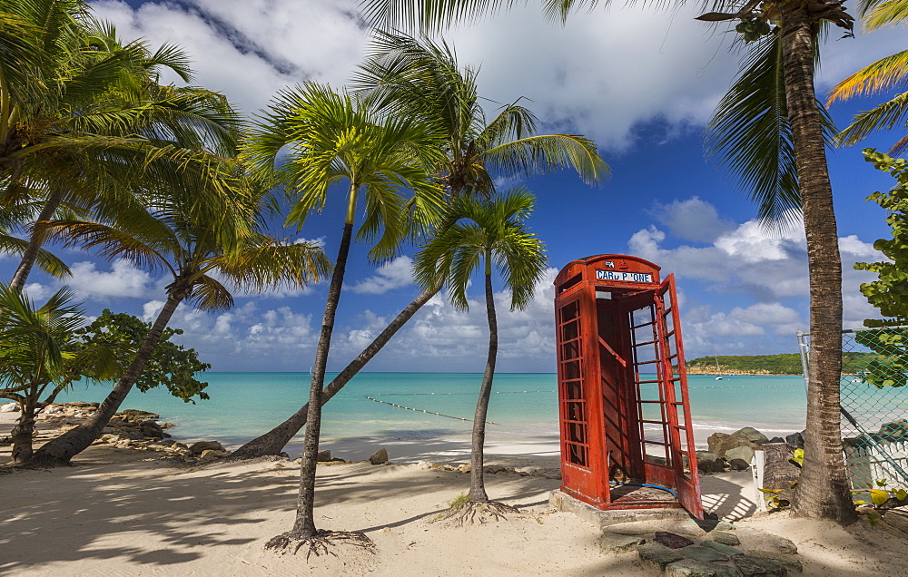
{"type": "Polygon", "coordinates": [[[555,279],[555,316],[561,491],[702,519],[675,276],[636,257],[574,260],[555,279]]]}

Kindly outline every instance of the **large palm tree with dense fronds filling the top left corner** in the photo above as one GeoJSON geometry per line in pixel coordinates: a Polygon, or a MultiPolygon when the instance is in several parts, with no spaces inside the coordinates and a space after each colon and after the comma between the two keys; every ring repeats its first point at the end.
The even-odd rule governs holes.
{"type": "MultiPolygon", "coordinates": [[[[123,44],[79,0],[0,0],[0,23],[0,181],[25,183],[5,209],[31,203],[36,221],[62,206],[116,210],[137,181],[204,174],[209,154],[235,154],[239,116],[222,95],[156,82],[163,68],[191,80],[176,47],[123,44]]],[[[40,249],[33,230],[14,289],[40,249]]]]}

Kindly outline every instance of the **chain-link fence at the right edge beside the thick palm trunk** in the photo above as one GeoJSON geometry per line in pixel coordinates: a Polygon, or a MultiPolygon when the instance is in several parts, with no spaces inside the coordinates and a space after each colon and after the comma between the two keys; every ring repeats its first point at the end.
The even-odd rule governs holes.
{"type": "MultiPolygon", "coordinates": [[[[798,333],[804,384],[810,334],[798,333]]],[[[842,436],[854,489],[908,489],[908,327],[842,331],[842,436]]]]}

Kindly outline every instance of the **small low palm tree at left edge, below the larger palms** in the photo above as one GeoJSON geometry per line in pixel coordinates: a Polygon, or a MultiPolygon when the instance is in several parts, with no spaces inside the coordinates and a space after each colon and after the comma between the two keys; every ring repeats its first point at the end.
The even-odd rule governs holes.
{"type": "Polygon", "coordinates": [[[74,349],[84,311],[71,304],[73,294],[61,288],[35,308],[21,292],[0,285],[0,395],[14,399],[21,410],[11,434],[14,464],[32,457],[35,411],[44,391],[75,375],[104,380],[117,367],[105,347],[74,349]]]}

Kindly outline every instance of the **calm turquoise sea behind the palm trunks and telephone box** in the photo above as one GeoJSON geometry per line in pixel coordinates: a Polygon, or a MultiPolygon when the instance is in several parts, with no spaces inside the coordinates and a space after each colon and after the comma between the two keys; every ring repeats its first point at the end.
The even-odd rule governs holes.
{"type": "MultiPolygon", "coordinates": [[[[326,382],[333,376],[329,374],[326,382]]],[[[177,439],[218,439],[235,447],[281,423],[309,395],[308,373],[206,373],[203,377],[209,382],[211,400],[183,403],[162,387],[144,394],[133,391],[123,408],[159,414],[161,420],[178,425],[170,431],[177,439]]],[[[472,418],[481,378],[479,374],[360,373],[325,406],[323,443],[393,439],[430,445],[432,440],[465,440],[471,422],[460,419],[472,418]]],[[[496,375],[489,439],[499,444],[557,442],[556,386],[554,374],[496,375]]],[[[698,445],[716,431],[742,426],[754,426],[770,437],[804,428],[802,377],[735,376],[716,381],[713,376],[690,376],[688,389],[698,445]]],[[[58,402],[100,401],[107,390],[76,386],[59,396],[58,402]]],[[[883,399],[873,410],[886,412],[886,418],[906,417],[906,394],[895,390],[892,398],[883,399]]],[[[293,445],[301,445],[301,436],[293,445]]],[[[297,448],[293,445],[288,451],[297,448]]]]}

